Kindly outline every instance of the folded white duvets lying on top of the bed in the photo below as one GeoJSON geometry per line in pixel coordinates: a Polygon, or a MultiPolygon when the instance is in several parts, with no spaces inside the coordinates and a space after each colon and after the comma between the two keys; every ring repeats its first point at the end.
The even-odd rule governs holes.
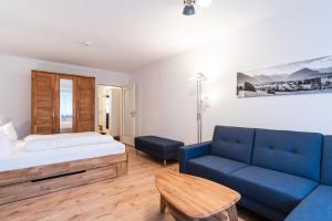
{"type": "Polygon", "coordinates": [[[113,137],[98,133],[71,133],[56,135],[30,135],[24,138],[27,151],[40,151],[83,145],[112,144],[113,137]]]}

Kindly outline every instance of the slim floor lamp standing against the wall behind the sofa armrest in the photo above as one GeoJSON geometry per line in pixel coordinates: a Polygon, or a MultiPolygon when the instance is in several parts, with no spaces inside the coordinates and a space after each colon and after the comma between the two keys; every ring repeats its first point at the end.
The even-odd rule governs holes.
{"type": "Polygon", "coordinates": [[[203,93],[201,93],[201,83],[206,81],[206,76],[203,73],[196,75],[197,83],[197,143],[201,143],[201,118],[203,118],[203,93]]]}

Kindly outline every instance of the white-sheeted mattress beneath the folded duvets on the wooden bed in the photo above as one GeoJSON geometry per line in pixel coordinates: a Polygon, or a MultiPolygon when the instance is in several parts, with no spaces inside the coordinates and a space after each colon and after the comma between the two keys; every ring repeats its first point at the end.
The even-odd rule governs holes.
{"type": "Polygon", "coordinates": [[[116,140],[42,151],[25,151],[24,147],[25,141],[18,141],[11,155],[0,155],[0,172],[125,152],[125,145],[116,140]]]}

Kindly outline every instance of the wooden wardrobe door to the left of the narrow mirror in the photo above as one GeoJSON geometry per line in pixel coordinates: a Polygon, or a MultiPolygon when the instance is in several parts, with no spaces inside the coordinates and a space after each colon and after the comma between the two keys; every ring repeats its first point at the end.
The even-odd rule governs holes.
{"type": "Polygon", "coordinates": [[[31,97],[31,133],[59,133],[58,109],[58,75],[32,71],[31,97]]]}

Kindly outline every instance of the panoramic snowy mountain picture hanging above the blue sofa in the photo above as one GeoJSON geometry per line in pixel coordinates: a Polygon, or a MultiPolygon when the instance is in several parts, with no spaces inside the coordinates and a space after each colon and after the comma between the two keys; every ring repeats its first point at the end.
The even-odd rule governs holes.
{"type": "Polygon", "coordinates": [[[332,56],[237,74],[238,97],[332,92],[332,56]]]}

